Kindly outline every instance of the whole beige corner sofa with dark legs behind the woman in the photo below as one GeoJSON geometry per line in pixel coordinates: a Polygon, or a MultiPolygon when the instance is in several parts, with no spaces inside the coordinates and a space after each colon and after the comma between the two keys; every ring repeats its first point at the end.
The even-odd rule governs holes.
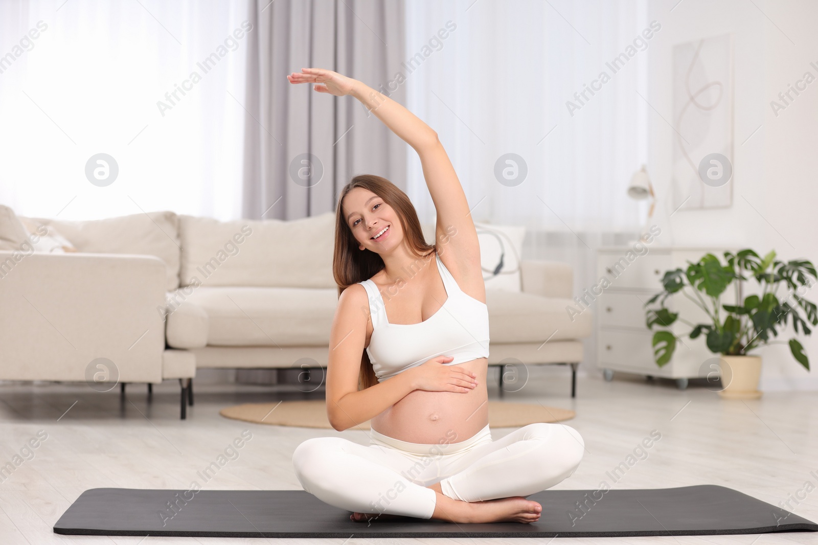
{"type": "MultiPolygon", "coordinates": [[[[333,212],[71,222],[0,205],[0,380],[87,381],[89,363],[108,358],[123,388],[179,379],[184,417],[196,368],[326,367],[338,300],[334,231],[333,212]],[[67,240],[77,252],[27,251],[20,236],[41,233],[41,246],[67,240]]],[[[434,240],[434,226],[424,233],[434,240]]],[[[564,263],[523,259],[519,291],[487,282],[489,365],[517,363],[525,380],[528,365],[569,364],[576,394],[592,316],[572,322],[565,312],[572,276],[564,263]]]]}

